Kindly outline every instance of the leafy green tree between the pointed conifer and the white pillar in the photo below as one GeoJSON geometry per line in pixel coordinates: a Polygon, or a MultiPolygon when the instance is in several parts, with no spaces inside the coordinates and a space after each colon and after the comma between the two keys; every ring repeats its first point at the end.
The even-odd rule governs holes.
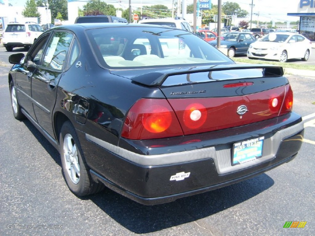
{"type": "MultiPolygon", "coordinates": [[[[37,0],[37,7],[46,6],[46,0],[37,0]]],[[[48,0],[48,5],[51,13],[51,20],[57,19],[58,12],[64,20],[68,20],[68,2],[67,0],[48,0]]]]}

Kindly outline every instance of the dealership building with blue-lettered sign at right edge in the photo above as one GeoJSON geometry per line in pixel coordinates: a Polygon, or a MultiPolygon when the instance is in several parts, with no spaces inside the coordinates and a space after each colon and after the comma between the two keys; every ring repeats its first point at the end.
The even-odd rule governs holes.
{"type": "Polygon", "coordinates": [[[300,17],[300,34],[315,42],[315,0],[299,0],[297,12],[288,13],[288,16],[300,17]]]}

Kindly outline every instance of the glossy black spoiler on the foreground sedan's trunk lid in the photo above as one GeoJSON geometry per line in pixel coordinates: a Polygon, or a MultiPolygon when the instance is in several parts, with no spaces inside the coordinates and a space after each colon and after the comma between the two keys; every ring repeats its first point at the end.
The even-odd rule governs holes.
{"type": "Polygon", "coordinates": [[[184,75],[199,72],[223,71],[223,70],[245,70],[245,69],[262,69],[264,76],[283,76],[284,70],[281,66],[262,65],[262,64],[232,64],[232,65],[215,65],[209,66],[196,66],[196,67],[179,67],[168,70],[158,70],[144,73],[131,77],[134,82],[146,86],[161,86],[169,76],[184,75]]]}

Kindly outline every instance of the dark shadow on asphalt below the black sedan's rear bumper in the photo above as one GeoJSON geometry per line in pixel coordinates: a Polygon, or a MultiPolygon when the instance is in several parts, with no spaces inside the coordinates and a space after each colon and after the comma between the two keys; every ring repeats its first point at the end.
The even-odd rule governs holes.
{"type": "Polygon", "coordinates": [[[142,234],[214,215],[260,194],[273,184],[272,178],[261,174],[224,188],[154,206],[138,204],[108,188],[89,199],[126,229],[142,234]]]}

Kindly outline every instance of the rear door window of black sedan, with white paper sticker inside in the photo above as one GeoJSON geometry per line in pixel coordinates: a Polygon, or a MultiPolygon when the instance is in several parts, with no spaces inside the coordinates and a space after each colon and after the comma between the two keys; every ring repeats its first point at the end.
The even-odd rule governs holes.
{"type": "Polygon", "coordinates": [[[48,44],[43,66],[62,70],[72,39],[73,34],[70,32],[56,32],[48,44]]]}

